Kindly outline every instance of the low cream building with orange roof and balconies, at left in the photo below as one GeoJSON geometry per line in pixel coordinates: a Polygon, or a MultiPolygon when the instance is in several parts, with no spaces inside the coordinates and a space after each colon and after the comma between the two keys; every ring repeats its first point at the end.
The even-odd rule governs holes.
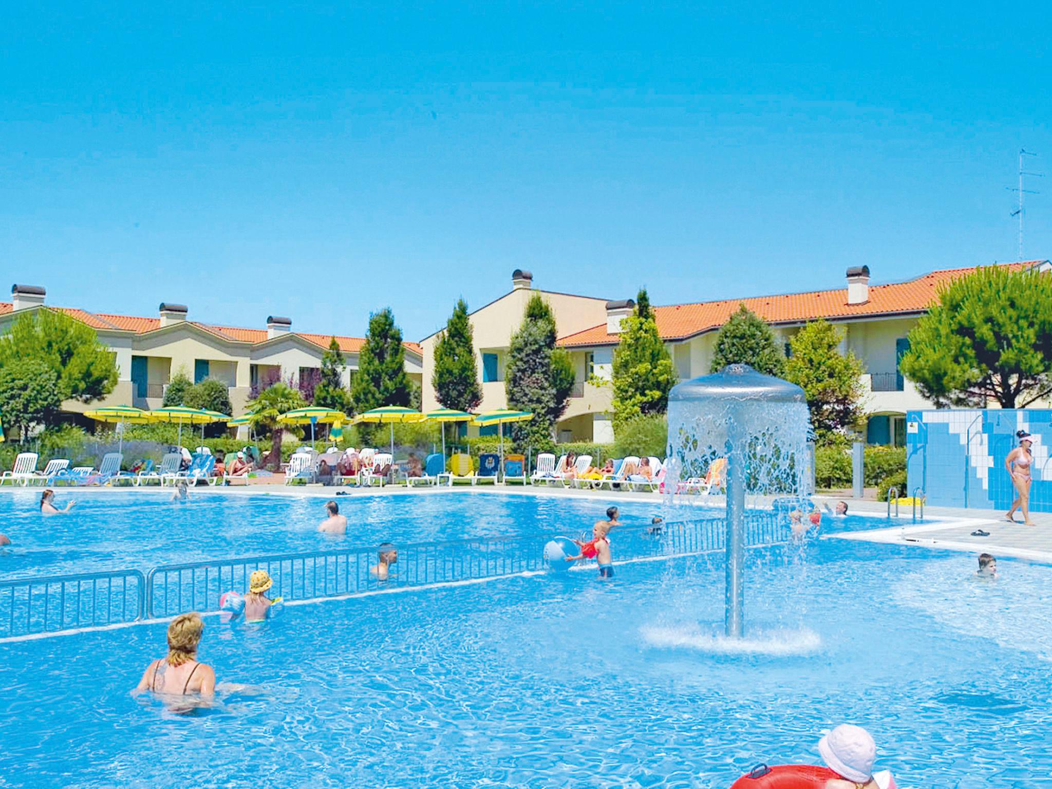
{"type": "MultiPolygon", "coordinates": [[[[15,285],[12,301],[0,302],[0,332],[23,315],[57,309],[95,329],[99,341],[117,360],[118,381],[104,399],[88,405],[67,401],[63,409],[83,412],[103,405],[161,406],[173,377],[183,372],[195,383],[206,378],[226,384],[236,414],[255,391],[274,381],[298,385],[321,369],[322,353],[335,337],[344,353],[344,384],[358,369],[362,338],[292,331],[288,318],[270,316],[264,328],[218,326],[188,319],[182,304],[162,303],[154,318],[89,312],[70,307],[49,307],[44,288],[15,285]]],[[[405,368],[420,385],[423,359],[416,343],[405,343],[405,368]]]]}

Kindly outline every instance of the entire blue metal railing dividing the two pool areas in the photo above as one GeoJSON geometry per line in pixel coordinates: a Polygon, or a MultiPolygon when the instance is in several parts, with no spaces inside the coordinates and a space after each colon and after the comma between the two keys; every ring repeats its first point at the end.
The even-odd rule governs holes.
{"type": "MultiPolygon", "coordinates": [[[[747,546],[784,542],[788,533],[787,524],[773,513],[747,515],[747,546]]],[[[257,569],[266,570],[274,580],[269,595],[288,601],[543,570],[544,545],[552,537],[396,545],[398,561],[389,566],[386,579],[378,571],[379,547],[358,547],[170,565],[145,574],[115,570],[0,581],[0,639],[215,611],[219,595],[227,590],[244,592],[257,569]]],[[[622,527],[612,535],[614,561],[712,552],[725,543],[726,522],[721,517],[622,527]]]]}

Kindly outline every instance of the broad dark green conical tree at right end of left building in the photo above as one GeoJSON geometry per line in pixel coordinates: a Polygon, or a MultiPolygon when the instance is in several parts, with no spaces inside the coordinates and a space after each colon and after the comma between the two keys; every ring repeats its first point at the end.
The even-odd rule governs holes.
{"type": "Polygon", "coordinates": [[[408,406],[411,401],[402,330],[389,307],[369,316],[350,396],[359,413],[382,405],[408,406]]]}

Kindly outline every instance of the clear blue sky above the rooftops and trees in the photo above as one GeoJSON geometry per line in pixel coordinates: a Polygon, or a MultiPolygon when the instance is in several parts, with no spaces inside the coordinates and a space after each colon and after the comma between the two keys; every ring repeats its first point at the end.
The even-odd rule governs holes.
{"type": "MultiPolygon", "coordinates": [[[[730,7],[734,6],[734,7],[730,7]]],[[[654,303],[1052,257],[1049,6],[5,11],[0,269],[54,304],[407,339],[457,297],[654,303]]],[[[4,283],[6,287],[6,283],[4,283]]]]}

